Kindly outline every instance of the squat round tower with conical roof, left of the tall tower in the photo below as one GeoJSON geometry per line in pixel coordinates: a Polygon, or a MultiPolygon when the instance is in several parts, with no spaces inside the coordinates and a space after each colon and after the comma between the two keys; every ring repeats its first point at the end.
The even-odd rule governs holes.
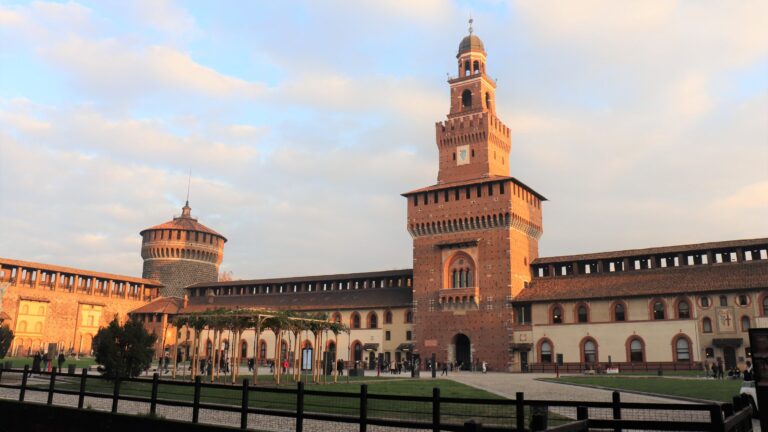
{"type": "Polygon", "coordinates": [[[187,201],[181,216],[140,233],[142,277],[162,282],[160,294],[166,297],[184,297],[184,287],[218,280],[227,239],[191,212],[187,201]]]}

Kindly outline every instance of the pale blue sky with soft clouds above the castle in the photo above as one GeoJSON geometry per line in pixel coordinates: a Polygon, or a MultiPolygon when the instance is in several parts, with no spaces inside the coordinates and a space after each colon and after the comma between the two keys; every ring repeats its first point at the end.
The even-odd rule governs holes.
{"type": "Polygon", "coordinates": [[[768,236],[768,2],[0,1],[0,256],[141,273],[190,205],[236,279],[409,268],[467,19],[541,256],[768,236]]]}

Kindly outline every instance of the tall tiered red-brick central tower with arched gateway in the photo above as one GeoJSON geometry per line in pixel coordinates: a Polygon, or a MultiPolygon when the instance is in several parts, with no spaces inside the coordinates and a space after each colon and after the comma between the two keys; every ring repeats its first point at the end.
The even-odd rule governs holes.
{"type": "Polygon", "coordinates": [[[487,362],[520,370],[530,344],[513,344],[528,322],[508,308],[531,278],[546,198],[509,175],[510,129],[496,117],[496,84],[483,42],[459,45],[458,76],[448,81],[450,112],[436,124],[437,184],[408,198],[413,237],[414,353],[424,363],[487,362]]]}

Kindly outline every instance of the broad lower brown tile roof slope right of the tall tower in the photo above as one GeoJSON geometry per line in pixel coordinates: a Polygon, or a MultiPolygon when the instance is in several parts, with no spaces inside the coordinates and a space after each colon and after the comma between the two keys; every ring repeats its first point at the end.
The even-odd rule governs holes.
{"type": "Polygon", "coordinates": [[[768,289],[768,261],[536,278],[515,302],[768,289]]]}

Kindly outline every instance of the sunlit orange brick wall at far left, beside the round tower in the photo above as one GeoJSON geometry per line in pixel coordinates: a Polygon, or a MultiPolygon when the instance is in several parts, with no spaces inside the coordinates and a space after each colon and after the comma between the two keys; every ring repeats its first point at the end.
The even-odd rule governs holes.
{"type": "Polygon", "coordinates": [[[13,355],[59,349],[89,353],[99,327],[152,300],[159,283],[128,276],[0,258],[2,311],[13,355]]]}

